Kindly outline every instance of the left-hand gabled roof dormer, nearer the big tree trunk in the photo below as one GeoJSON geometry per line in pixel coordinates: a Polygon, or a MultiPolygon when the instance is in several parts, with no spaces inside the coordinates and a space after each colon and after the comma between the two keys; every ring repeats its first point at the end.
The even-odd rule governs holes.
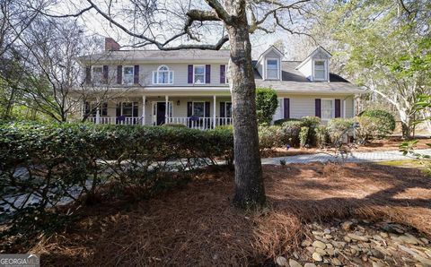
{"type": "Polygon", "coordinates": [[[283,56],[283,53],[274,46],[270,46],[259,56],[255,67],[263,80],[281,80],[281,60],[283,56]]]}

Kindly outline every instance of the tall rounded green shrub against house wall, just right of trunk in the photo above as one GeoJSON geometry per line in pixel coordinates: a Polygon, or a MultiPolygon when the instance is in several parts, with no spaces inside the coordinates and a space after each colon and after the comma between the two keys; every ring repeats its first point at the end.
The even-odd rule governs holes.
{"type": "Polygon", "coordinates": [[[271,88],[256,89],[256,115],[259,124],[270,124],[278,107],[277,92],[271,88]]]}

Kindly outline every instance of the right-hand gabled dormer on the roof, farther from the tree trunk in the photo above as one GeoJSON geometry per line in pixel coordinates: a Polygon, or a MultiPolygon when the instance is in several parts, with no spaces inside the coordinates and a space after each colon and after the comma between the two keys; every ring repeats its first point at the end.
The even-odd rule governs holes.
{"type": "Polygon", "coordinates": [[[296,67],[311,82],[330,82],[330,52],[317,47],[296,67]]]}

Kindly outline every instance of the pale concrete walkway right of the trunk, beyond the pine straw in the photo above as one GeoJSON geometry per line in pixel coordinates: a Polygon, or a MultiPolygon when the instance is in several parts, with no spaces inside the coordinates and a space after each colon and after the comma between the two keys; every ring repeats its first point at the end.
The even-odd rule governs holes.
{"type": "MultiPolygon", "coordinates": [[[[431,156],[431,149],[417,150],[416,152],[431,156]]],[[[280,160],[286,160],[288,163],[309,163],[312,161],[342,161],[339,157],[335,157],[333,153],[317,153],[308,155],[286,156],[278,158],[262,159],[262,164],[280,165],[280,160]]],[[[352,152],[348,154],[345,162],[374,162],[386,160],[400,160],[400,159],[415,159],[411,156],[404,156],[400,151],[372,151],[372,152],[352,152]]]]}

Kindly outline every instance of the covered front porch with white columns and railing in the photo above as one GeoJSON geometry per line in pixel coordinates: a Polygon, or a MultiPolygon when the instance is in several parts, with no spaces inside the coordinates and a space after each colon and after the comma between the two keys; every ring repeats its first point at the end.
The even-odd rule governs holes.
{"type": "Polygon", "coordinates": [[[101,125],[186,125],[195,129],[213,129],[232,125],[230,96],[142,95],[99,102],[96,108],[87,102],[88,120],[101,125]]]}

